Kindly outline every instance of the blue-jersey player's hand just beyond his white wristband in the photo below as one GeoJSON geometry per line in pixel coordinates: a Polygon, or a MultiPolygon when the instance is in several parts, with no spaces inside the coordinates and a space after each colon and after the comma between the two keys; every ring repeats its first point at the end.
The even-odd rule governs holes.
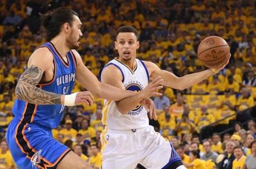
{"type": "Polygon", "coordinates": [[[75,105],[85,103],[87,106],[93,104],[94,98],[90,91],[80,91],[76,95],[75,105]]]}

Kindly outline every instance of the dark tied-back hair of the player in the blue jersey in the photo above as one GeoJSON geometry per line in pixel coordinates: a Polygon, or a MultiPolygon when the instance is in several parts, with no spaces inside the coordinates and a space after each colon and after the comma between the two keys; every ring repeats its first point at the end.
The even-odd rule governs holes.
{"type": "Polygon", "coordinates": [[[61,32],[61,26],[64,23],[67,22],[72,26],[72,21],[74,21],[73,16],[78,17],[78,14],[66,7],[53,9],[44,14],[41,23],[46,28],[46,40],[50,41],[56,37],[61,32]]]}

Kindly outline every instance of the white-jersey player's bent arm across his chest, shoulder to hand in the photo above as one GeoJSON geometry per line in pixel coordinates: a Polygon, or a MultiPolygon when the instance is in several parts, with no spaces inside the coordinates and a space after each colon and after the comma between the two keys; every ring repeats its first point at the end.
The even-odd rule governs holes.
{"type": "MultiPolygon", "coordinates": [[[[127,112],[135,109],[135,107],[145,98],[150,98],[152,95],[161,95],[156,93],[156,90],[161,89],[163,86],[159,86],[159,83],[162,81],[160,77],[156,78],[154,81],[149,83],[146,88],[139,93],[136,93],[129,98],[116,101],[117,109],[122,113],[126,114],[127,112]]],[[[120,70],[114,65],[107,66],[104,71],[102,71],[102,83],[106,83],[116,88],[125,90],[124,85],[122,84],[122,75],[120,70]]]]}

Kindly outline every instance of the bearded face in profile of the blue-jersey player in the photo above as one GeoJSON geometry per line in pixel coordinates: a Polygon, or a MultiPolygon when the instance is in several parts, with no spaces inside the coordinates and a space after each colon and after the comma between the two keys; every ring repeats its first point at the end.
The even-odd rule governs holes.
{"type": "Polygon", "coordinates": [[[82,38],[81,32],[82,23],[77,16],[74,16],[74,21],[70,27],[70,34],[67,37],[67,43],[70,49],[77,49],[80,45],[80,39],[82,38]]]}

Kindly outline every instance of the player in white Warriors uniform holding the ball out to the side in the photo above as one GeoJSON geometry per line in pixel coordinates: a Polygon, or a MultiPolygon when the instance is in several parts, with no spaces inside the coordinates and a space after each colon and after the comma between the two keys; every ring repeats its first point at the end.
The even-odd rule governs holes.
{"type": "Polygon", "coordinates": [[[186,89],[224,68],[208,69],[178,78],[169,71],[160,70],[152,62],[136,59],[139,48],[138,32],[124,26],[117,30],[115,48],[119,58],[111,60],[101,71],[101,81],[120,89],[140,91],[121,101],[105,100],[101,134],[102,169],[134,169],[140,163],[147,169],[185,169],[170,142],[149,126],[147,111],[139,103],[149,79],[161,76],[161,85],[186,89]]]}

